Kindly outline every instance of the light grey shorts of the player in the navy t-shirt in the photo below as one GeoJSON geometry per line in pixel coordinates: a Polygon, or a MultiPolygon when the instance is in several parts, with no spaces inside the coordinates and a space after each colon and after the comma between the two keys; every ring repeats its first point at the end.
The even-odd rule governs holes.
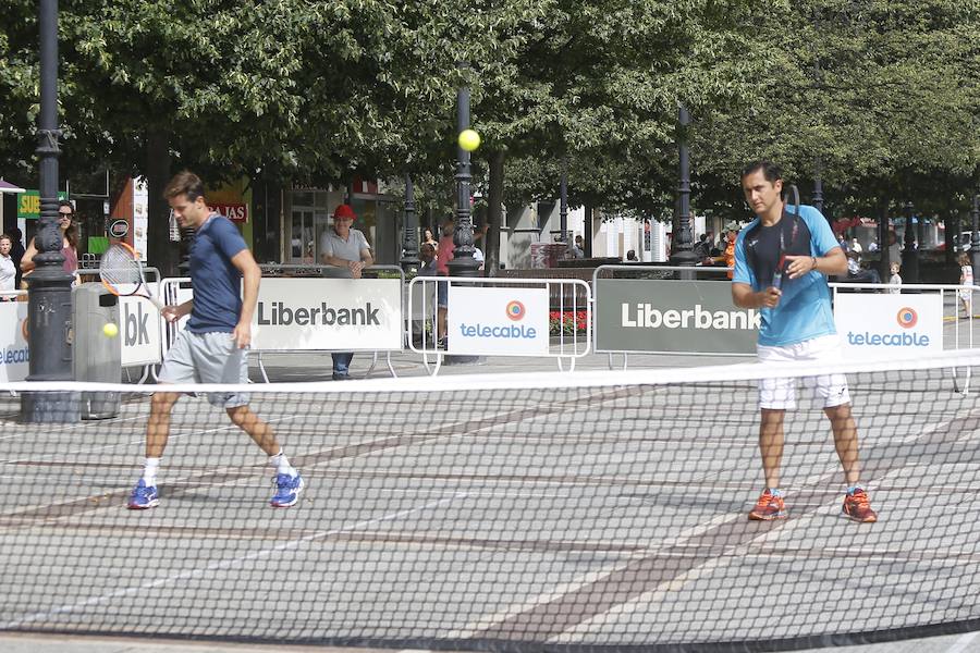
{"type": "MultiPolygon", "coordinates": [[[[231,333],[191,333],[186,329],[163,358],[161,383],[248,383],[248,349],[240,349],[231,333]]],[[[248,404],[241,393],[208,393],[219,408],[248,404]]]]}

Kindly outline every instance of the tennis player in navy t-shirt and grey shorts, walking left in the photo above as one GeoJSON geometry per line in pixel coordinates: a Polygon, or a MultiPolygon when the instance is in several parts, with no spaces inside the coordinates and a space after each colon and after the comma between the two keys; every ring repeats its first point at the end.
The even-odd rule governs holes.
{"type": "MultiPolygon", "coordinates": [[[[159,380],[161,383],[247,383],[247,349],[252,343],[252,317],[261,271],[235,225],[208,208],[204,184],[197,175],[177,174],[163,195],[181,226],[195,231],[191,244],[194,298],[163,309],[163,317],[169,321],[187,315],[191,318],[167,352],[159,380]],[[244,298],[240,287],[244,288],[244,298]]],[[[154,394],[146,427],[146,463],[143,477],[130,496],[131,509],[152,508],[160,502],[157,469],[170,436],[170,414],[180,396],[172,392],[154,394]]],[[[232,422],[269,456],[277,472],[271,504],[294,505],[303,491],[303,478],[282,453],[272,428],[248,408],[248,396],[209,393],[208,402],[224,408],[232,422]]]]}

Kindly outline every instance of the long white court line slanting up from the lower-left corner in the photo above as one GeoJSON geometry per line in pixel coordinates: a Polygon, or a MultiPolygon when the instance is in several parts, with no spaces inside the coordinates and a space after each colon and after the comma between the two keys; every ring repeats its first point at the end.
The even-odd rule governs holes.
{"type": "Polygon", "coordinates": [[[278,546],[273,546],[271,549],[264,549],[261,551],[257,551],[255,553],[249,553],[248,555],[238,556],[236,558],[232,558],[232,559],[228,559],[228,560],[218,560],[216,563],[211,563],[210,565],[208,565],[207,567],[205,567],[203,569],[194,569],[191,571],[183,571],[181,574],[174,574],[174,575],[168,576],[166,578],[155,580],[152,582],[142,583],[137,587],[131,587],[131,588],[126,588],[124,590],[117,590],[117,591],[110,592],[108,594],[100,594],[99,596],[91,596],[89,599],[86,599],[85,601],[79,601],[77,603],[70,603],[66,605],[61,605],[59,607],[49,609],[47,612],[33,613],[33,614],[26,615],[20,619],[16,619],[14,621],[7,621],[7,623],[0,624],[0,630],[12,630],[12,629],[21,628],[27,624],[33,624],[35,621],[44,621],[46,619],[50,619],[51,617],[53,617],[56,615],[72,613],[78,608],[88,607],[91,605],[98,605],[100,603],[105,603],[105,602],[111,601],[113,599],[122,599],[123,596],[138,594],[140,592],[157,589],[157,588],[160,588],[160,587],[173,583],[173,582],[188,580],[192,578],[197,578],[197,577],[204,576],[210,571],[216,571],[219,569],[236,568],[242,563],[247,563],[247,562],[269,557],[272,554],[281,553],[283,551],[295,550],[308,542],[313,542],[314,540],[320,540],[320,539],[329,538],[331,535],[336,535],[336,534],[340,534],[340,533],[343,533],[346,531],[365,528],[365,527],[371,526],[372,523],[380,523],[383,521],[391,521],[392,519],[399,519],[401,517],[405,517],[405,516],[412,515],[414,513],[420,513],[424,510],[434,508],[440,505],[451,503],[458,498],[464,498],[465,496],[466,496],[465,493],[456,493],[451,497],[442,498],[442,500],[439,500],[436,502],[430,502],[425,505],[417,506],[415,508],[400,510],[397,513],[391,513],[389,515],[384,515],[383,517],[377,517],[375,519],[366,519],[364,521],[358,521],[357,523],[353,523],[351,526],[345,526],[342,528],[331,529],[331,530],[327,530],[327,531],[319,531],[319,532],[306,535],[305,538],[298,538],[296,540],[291,540],[289,542],[278,545],[278,546]]]}

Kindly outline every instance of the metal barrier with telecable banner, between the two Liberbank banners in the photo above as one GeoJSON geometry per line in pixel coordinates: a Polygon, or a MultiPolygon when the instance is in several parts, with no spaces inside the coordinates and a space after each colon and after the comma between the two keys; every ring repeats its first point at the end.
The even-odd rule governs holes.
{"type": "Polygon", "coordinates": [[[591,350],[591,296],[589,285],[577,279],[416,276],[408,283],[408,348],[422,355],[422,365],[432,375],[439,373],[444,356],[454,354],[551,357],[562,371],[567,359],[572,371],[575,360],[591,350]],[[497,288],[503,293],[493,292],[497,288]],[[444,293],[446,304],[442,315],[440,293],[444,293]],[[468,311],[467,319],[477,323],[457,323],[463,311],[468,311]],[[504,318],[512,323],[491,326],[479,322],[504,318]],[[446,332],[456,329],[440,333],[440,320],[446,332]],[[559,326],[558,333],[552,333],[553,326],[559,326]],[[513,335],[518,332],[518,336],[513,335]],[[439,336],[448,336],[448,344],[440,342],[439,336]],[[477,346],[454,350],[453,343],[464,337],[481,340],[477,346]],[[506,342],[518,337],[524,346],[506,342]],[[502,340],[503,344],[491,338],[502,340]],[[430,356],[434,356],[431,362],[430,356]]]}

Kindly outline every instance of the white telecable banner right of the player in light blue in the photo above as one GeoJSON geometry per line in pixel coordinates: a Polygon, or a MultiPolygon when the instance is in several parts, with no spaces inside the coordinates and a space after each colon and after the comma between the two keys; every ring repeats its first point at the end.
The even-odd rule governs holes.
{"type": "Polygon", "coordinates": [[[930,295],[841,293],[834,322],[848,359],[887,359],[943,350],[943,298],[930,295]]]}

